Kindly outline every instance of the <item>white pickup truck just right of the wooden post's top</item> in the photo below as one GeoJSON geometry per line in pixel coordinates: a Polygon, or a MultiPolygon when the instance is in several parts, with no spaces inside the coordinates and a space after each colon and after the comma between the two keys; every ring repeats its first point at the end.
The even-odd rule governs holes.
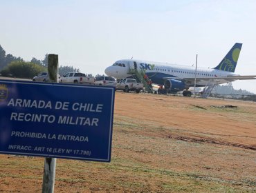
{"type": "Polygon", "coordinates": [[[94,84],[94,77],[88,77],[84,73],[80,72],[68,72],[64,76],[60,77],[62,83],[84,83],[94,84]]]}

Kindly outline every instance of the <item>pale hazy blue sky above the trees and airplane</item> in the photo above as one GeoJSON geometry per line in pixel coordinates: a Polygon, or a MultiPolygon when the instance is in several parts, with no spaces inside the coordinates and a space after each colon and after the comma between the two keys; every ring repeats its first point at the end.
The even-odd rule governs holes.
{"type": "MultiPolygon", "coordinates": [[[[0,0],[0,45],[30,61],[58,54],[59,65],[104,74],[119,59],[214,68],[243,43],[236,74],[256,75],[256,1],[0,0]]],[[[256,93],[256,80],[235,89],[256,93]]]]}

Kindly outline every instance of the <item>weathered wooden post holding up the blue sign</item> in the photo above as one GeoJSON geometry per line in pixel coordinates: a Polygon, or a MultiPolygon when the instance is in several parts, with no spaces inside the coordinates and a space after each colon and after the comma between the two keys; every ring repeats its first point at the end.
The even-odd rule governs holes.
{"type": "MultiPolygon", "coordinates": [[[[51,82],[58,82],[58,55],[48,54],[48,78],[51,82]]],[[[44,179],[43,179],[43,193],[53,193],[55,183],[55,158],[46,158],[44,160],[44,179]]]]}

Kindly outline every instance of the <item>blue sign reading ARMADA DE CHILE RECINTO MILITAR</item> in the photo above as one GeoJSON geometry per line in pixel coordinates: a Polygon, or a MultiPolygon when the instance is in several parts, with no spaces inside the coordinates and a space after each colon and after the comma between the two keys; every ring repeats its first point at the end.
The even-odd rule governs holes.
{"type": "Polygon", "coordinates": [[[0,153],[111,160],[115,88],[0,81],[0,153]]]}

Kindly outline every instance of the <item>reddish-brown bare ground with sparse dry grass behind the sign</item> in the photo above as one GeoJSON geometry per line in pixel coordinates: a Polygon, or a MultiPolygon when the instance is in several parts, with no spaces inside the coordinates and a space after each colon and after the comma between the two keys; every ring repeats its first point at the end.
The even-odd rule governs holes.
{"type": "MultiPolygon", "coordinates": [[[[111,163],[57,159],[55,192],[256,192],[255,117],[253,102],[116,92],[111,163]]],[[[43,170],[0,155],[0,192],[42,192],[43,170]]]]}

